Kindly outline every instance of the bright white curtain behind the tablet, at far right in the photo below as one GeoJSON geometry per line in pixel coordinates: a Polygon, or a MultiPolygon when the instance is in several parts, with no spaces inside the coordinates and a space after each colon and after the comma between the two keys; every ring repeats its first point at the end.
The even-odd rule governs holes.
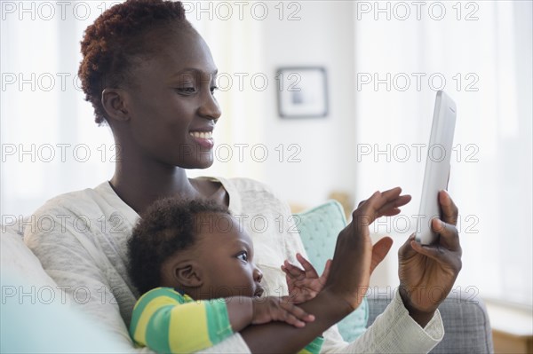
{"type": "Polygon", "coordinates": [[[402,185],[410,206],[373,231],[404,232],[396,246],[413,232],[435,90],[446,90],[457,103],[456,290],[531,307],[531,2],[421,3],[418,13],[404,2],[355,6],[356,196],[402,185]]]}

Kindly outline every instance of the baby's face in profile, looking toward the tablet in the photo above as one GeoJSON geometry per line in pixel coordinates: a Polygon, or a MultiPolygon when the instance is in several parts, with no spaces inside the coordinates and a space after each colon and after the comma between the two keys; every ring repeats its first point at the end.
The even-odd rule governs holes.
{"type": "MultiPolygon", "coordinates": [[[[203,267],[203,298],[259,296],[263,275],[253,264],[253,244],[233,216],[209,214],[202,218],[195,253],[203,267]]],[[[199,219],[200,220],[200,219],[199,219]]]]}

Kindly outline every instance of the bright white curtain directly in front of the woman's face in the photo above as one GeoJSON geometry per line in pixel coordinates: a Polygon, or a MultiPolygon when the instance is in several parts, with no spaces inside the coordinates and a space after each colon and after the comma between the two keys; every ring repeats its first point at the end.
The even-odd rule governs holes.
{"type": "Polygon", "coordinates": [[[216,97],[222,108],[213,133],[215,162],[210,169],[190,171],[189,176],[261,177],[261,163],[239,160],[239,149],[249,153],[249,146],[263,142],[265,92],[252,90],[254,80],[262,88],[265,54],[261,21],[249,15],[256,3],[184,2],[187,19],[208,43],[219,67],[216,97]],[[253,75],[257,77],[252,79],[253,75]]]}

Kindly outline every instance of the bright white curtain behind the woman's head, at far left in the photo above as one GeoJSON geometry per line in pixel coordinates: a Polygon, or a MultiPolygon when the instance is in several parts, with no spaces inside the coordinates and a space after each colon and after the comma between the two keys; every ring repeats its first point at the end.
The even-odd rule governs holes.
{"type": "Polygon", "coordinates": [[[112,176],[115,149],[77,80],[95,2],[2,4],[2,222],[112,176]]]}

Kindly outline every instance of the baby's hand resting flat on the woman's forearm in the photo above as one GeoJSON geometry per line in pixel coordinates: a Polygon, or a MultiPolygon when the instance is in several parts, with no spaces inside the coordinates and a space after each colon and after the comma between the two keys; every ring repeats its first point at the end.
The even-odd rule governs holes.
{"type": "Polygon", "coordinates": [[[282,321],[296,327],[313,322],[314,316],[290,303],[287,297],[255,297],[252,303],[251,324],[259,325],[271,321],[282,321]]]}

